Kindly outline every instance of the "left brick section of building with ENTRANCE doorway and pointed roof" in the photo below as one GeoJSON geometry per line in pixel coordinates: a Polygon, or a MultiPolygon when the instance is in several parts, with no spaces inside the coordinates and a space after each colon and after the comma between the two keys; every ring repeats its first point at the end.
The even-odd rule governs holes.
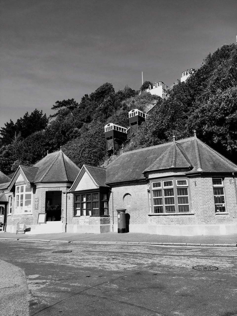
{"type": "Polygon", "coordinates": [[[13,178],[0,185],[5,197],[6,231],[15,232],[17,223],[25,223],[27,233],[64,232],[66,191],[79,168],[60,150],[46,155],[33,167],[19,166],[13,178]],[[39,214],[46,222],[38,224],[39,214]]]}

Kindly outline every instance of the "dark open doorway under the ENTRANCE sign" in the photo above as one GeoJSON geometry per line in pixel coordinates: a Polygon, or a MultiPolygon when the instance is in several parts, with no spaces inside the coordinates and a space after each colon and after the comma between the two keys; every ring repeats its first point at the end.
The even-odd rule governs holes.
{"type": "Polygon", "coordinates": [[[46,192],[46,222],[61,221],[62,191],[46,192]]]}

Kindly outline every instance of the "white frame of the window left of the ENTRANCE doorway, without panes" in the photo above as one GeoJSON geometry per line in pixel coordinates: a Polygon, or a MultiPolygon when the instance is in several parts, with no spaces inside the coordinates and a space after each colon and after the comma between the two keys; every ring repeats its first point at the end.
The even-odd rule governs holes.
{"type": "MultiPolygon", "coordinates": [[[[15,214],[22,214],[22,215],[23,214],[24,215],[32,214],[32,210],[33,210],[33,189],[30,188],[30,191],[26,192],[26,188],[28,188],[26,184],[16,185],[16,187],[15,187],[15,214]],[[23,187],[23,191],[22,192],[21,192],[21,187],[23,187]],[[19,192],[17,192],[18,188],[19,188],[19,192]],[[26,194],[31,194],[31,205],[25,206],[26,194]],[[21,200],[21,195],[23,195],[22,200],[21,200]],[[21,201],[22,201],[22,206],[20,205],[21,201]],[[17,206],[17,202],[19,202],[18,206],[17,206]]],[[[27,200],[29,200],[29,199],[27,199],[27,200]]]]}

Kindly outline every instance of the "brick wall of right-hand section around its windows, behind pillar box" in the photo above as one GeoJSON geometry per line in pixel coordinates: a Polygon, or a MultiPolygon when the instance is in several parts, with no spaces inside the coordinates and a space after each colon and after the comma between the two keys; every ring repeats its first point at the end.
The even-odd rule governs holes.
{"type": "MultiPolygon", "coordinates": [[[[130,224],[236,224],[237,204],[234,179],[232,177],[225,177],[224,186],[227,206],[225,214],[217,214],[215,212],[212,177],[193,176],[190,177],[190,207],[192,215],[148,216],[149,202],[146,183],[134,182],[131,184],[114,185],[112,186],[114,214],[116,214],[116,209],[125,208],[126,213],[130,214],[130,224]]],[[[110,216],[112,217],[111,207],[110,216]]],[[[116,216],[114,218],[116,221],[116,216]]]]}

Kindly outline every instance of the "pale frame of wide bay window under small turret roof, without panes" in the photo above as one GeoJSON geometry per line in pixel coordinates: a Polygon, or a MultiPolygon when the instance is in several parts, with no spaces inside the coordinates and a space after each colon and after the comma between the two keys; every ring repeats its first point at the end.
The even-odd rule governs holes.
{"type": "MultiPolygon", "coordinates": [[[[190,191],[190,181],[188,178],[185,177],[173,177],[173,178],[162,178],[162,179],[151,179],[150,180],[150,188],[151,188],[151,214],[155,214],[155,215],[177,215],[177,214],[191,214],[192,211],[192,204],[191,204],[191,191],[190,191]],[[179,185],[178,181],[179,180],[185,180],[186,184],[185,185],[179,185]],[[169,185],[168,185],[168,182],[169,185]],[[154,184],[156,183],[160,183],[160,186],[155,187],[154,184]],[[187,190],[187,194],[185,195],[178,195],[180,189],[186,189],[187,190]],[[154,191],[161,191],[161,196],[154,196],[153,192],[154,191]],[[165,190],[173,190],[173,195],[165,195],[164,193],[166,192],[169,193],[168,191],[165,190]],[[180,203],[181,197],[184,197],[184,200],[186,198],[188,198],[188,203],[180,203]],[[155,204],[154,199],[158,199],[158,198],[162,198],[162,205],[161,204],[155,204]],[[171,203],[166,203],[165,199],[170,200],[171,202],[173,202],[173,204],[171,203]],[[173,201],[172,201],[173,199],[173,201]],[[181,211],[181,207],[184,205],[188,205],[189,210],[188,211],[181,211]],[[160,207],[162,209],[162,212],[155,212],[155,207],[160,207]],[[167,210],[167,208],[170,207],[170,209],[174,209],[174,211],[169,211],[167,210]]],[[[172,192],[171,192],[172,193],[172,192]]],[[[185,192],[186,193],[186,192],[185,192]]]]}

